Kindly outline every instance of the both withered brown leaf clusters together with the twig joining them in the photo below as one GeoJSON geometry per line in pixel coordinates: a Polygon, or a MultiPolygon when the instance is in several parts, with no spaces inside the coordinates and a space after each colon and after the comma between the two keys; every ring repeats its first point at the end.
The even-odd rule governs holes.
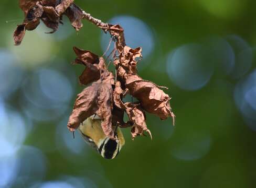
{"type": "Polygon", "coordinates": [[[126,45],[121,26],[103,23],[91,17],[75,5],[73,0],[19,0],[19,5],[24,11],[25,19],[14,32],[16,45],[22,42],[26,30],[34,30],[40,21],[55,32],[59,23],[62,23],[63,15],[69,18],[76,30],[82,27],[81,19],[86,18],[105,32],[109,32],[115,42],[111,53],[115,75],[109,72],[103,57],[87,50],[73,48],[77,55],[73,63],[85,66],[79,83],[89,86],[76,98],[68,121],[70,131],[76,130],[80,123],[94,114],[102,119],[102,129],[105,135],[112,139],[115,139],[116,126],[131,127],[133,139],[144,135],[145,132],[152,138],[146,125],[145,112],[154,114],[161,120],[172,117],[174,124],[175,115],[170,108],[170,97],[162,90],[167,88],[138,76],[137,64],[142,58],[142,48],[132,49],[126,45]],[[126,95],[131,95],[138,102],[123,102],[126,95]],[[124,122],[124,113],[129,117],[127,122],[124,122]]]}

